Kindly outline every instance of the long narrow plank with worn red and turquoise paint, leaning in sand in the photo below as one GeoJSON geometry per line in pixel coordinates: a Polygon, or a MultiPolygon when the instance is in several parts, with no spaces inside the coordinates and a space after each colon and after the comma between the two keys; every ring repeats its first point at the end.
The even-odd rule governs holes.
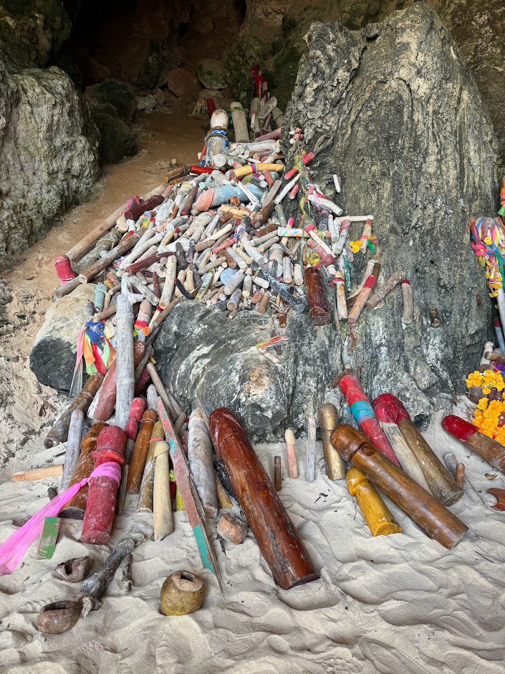
{"type": "Polygon", "coordinates": [[[200,559],[203,566],[215,574],[217,582],[219,582],[220,587],[222,587],[221,572],[217,566],[217,559],[215,558],[215,554],[209,543],[209,539],[207,538],[207,532],[205,531],[205,513],[203,512],[203,506],[197,492],[195,481],[193,480],[193,475],[189,469],[187,458],[180,446],[180,441],[174,431],[174,426],[172,425],[172,421],[170,421],[170,417],[164,408],[161,398],[156,400],[156,407],[158,408],[160,421],[163,424],[166,441],[170,447],[170,458],[172,458],[172,464],[174,466],[175,479],[182,497],[182,503],[184,503],[184,510],[187,512],[189,524],[191,524],[193,534],[195,534],[200,559]]]}

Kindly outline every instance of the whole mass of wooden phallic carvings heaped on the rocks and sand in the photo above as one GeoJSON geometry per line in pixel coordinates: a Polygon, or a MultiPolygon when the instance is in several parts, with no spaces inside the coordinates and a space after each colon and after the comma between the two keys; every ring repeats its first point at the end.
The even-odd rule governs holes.
{"type": "MultiPolygon", "coordinates": [[[[345,329],[349,337],[364,307],[377,307],[400,281],[402,321],[409,324],[411,288],[401,270],[375,288],[380,265],[373,218],[342,216],[339,206],[323,194],[310,176],[308,164],[314,154],[301,149],[300,129],[292,132],[298,154],[287,173],[276,132],[254,143],[226,144],[225,135],[207,137],[203,165],[176,166],[166,176],[166,185],[144,200],[135,197],[123,204],[55,261],[62,282],[55,299],[81,283],[98,281],[88,328],[76,336],[78,364],[84,357],[91,376],[84,386],[77,386],[73,402],[46,437],[47,447],[67,441],[59,494],[53,494],[48,505],[0,547],[0,572],[15,568],[40,528],[42,556],[50,557],[61,517],[83,520],[81,541],[106,543],[115,514],[123,512],[126,493],[138,495],[137,512],[152,513],[152,526],[137,522],[114,547],[102,572],[85,581],[79,602],[45,607],[38,621],[42,631],[63,632],[75,624],[81,609],[83,615],[97,609],[106,584],[135,545],[153,532],[157,541],[172,532],[174,506],[186,511],[202,563],[219,582],[205,520],[231,508],[231,498],[247,522],[224,515],[217,524],[222,537],[238,544],[248,524],[281,588],[318,578],[277,495],[281,457],[275,457],[274,486],[231,410],[214,410],[203,401],[193,410],[183,410],[149,362],[153,340],[165,317],[182,301],[207,303],[229,311],[230,318],[241,309],[260,313],[271,309],[281,327],[290,310],[308,309],[313,324],[329,324],[331,305],[335,317],[331,329],[345,329]],[[213,143],[215,138],[220,144],[213,143]],[[222,156],[216,160],[217,155],[222,156]],[[286,220],[284,210],[295,197],[300,202],[296,223],[286,220]],[[351,222],[365,223],[357,241],[347,241],[351,222]],[[362,282],[353,288],[353,256],[368,250],[374,257],[362,282]],[[88,330],[98,335],[89,343],[88,330]]],[[[334,188],[338,194],[336,175],[334,188]]],[[[278,344],[273,340],[263,350],[278,344]]],[[[79,384],[79,377],[76,381],[79,384]]],[[[356,495],[373,535],[401,532],[375,485],[428,536],[449,549],[456,545],[467,526],[446,506],[463,496],[461,466],[449,458],[450,470],[446,469],[394,396],[384,394],[370,404],[350,370],[336,377],[333,386],[339,386],[362,432],[339,424],[332,404],[321,406],[319,426],[329,479],[347,479],[349,493],[356,495]],[[348,470],[345,462],[351,464],[348,470]]],[[[314,417],[307,421],[305,477],[313,481],[317,421],[314,417]]],[[[290,429],[285,438],[288,475],[296,479],[296,441],[290,429]]],[[[501,446],[490,448],[481,441],[472,447],[504,470],[501,446]],[[485,451],[479,449],[483,446],[485,451]]],[[[473,492],[468,488],[467,493],[473,492]]],[[[85,564],[69,560],[62,578],[73,574],[74,563],[78,580],[86,575],[85,564]]],[[[164,584],[166,593],[176,588],[176,608],[168,608],[166,594],[166,610],[197,610],[203,601],[197,581],[193,574],[179,572],[164,584]],[[184,603],[182,595],[191,596],[191,601],[184,603]]]]}

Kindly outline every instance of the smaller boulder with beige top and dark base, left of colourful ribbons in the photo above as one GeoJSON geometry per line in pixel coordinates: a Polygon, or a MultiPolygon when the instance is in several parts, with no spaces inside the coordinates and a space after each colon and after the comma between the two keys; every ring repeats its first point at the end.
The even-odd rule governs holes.
{"type": "Polygon", "coordinates": [[[30,351],[30,369],[41,384],[69,391],[75,368],[72,342],[90,320],[86,303],[93,301],[96,285],[84,283],[50,305],[44,325],[30,351]]]}

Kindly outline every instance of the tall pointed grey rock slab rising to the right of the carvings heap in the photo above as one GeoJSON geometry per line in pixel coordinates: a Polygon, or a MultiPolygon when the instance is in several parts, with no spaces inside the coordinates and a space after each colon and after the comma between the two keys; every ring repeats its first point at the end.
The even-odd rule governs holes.
{"type": "MultiPolygon", "coordinates": [[[[287,164],[289,130],[300,126],[317,152],[316,182],[333,197],[337,173],[344,212],[374,214],[379,283],[399,269],[410,280],[413,323],[401,323],[397,288],[382,307],[365,309],[351,364],[362,368],[370,398],[396,394],[423,423],[430,400],[463,390],[490,331],[492,303],[467,223],[496,212],[492,127],[471,71],[424,3],[358,31],[315,23],[306,41],[284,116],[287,164]]],[[[362,223],[350,238],[361,231],[362,223]]],[[[356,261],[361,278],[360,253],[356,261]]]]}

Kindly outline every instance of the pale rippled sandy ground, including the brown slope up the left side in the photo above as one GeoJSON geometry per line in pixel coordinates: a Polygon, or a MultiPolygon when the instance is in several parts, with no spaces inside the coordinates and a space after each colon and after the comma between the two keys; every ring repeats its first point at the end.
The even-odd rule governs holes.
{"type": "MultiPolygon", "coordinates": [[[[0,541],[47,501],[57,480],[11,483],[13,472],[63,462],[65,446],[45,450],[42,439],[65,398],[40,386],[28,353],[55,286],[53,257],[68,249],[133,193],[160,182],[172,156],[191,160],[201,144],[199,121],[151,115],[142,123],[143,152],[108,168],[98,199],[69,212],[63,226],[35,245],[22,264],[3,274],[13,301],[0,328],[0,541]],[[156,135],[148,135],[156,133],[156,135]],[[188,154],[189,153],[189,154],[188,154]]],[[[454,451],[488,505],[495,473],[448,438],[434,419],[426,437],[442,456],[454,451]]],[[[300,475],[303,441],[297,442],[300,475]]],[[[257,446],[267,470],[278,446],[257,446]]],[[[79,542],[81,524],[62,520],[53,559],[36,560],[32,546],[10,575],[0,578],[0,672],[33,674],[494,674],[504,671],[504,514],[466,497],[451,510],[469,532],[452,551],[430,541],[395,506],[403,534],[373,538],[345,482],[324,474],[318,443],[317,477],[290,480],[283,470],[281,500],[308,547],[321,579],[283,591],[275,586],[252,534],[238,547],[209,534],[224,576],[221,592],[203,571],[184,512],[167,539],[142,543],[133,553],[133,587],[112,581],[104,604],[65,634],[44,636],[36,616],[46,603],[76,598],[79,585],[53,577],[57,563],[90,554],[100,568],[110,547],[79,542]],[[160,587],[178,569],[205,583],[197,613],[164,617],[160,587]]],[[[111,545],[139,517],[135,497],[116,518],[111,545]]],[[[144,516],[147,517],[147,516],[144,516]]],[[[119,578],[120,573],[116,574],[119,578]]]]}

